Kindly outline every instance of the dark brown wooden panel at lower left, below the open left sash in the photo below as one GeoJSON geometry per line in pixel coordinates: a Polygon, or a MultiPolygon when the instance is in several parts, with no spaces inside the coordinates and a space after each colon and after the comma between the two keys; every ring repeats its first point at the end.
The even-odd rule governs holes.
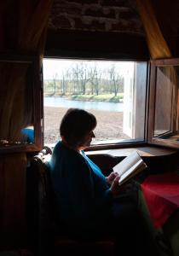
{"type": "Polygon", "coordinates": [[[0,155],[0,249],[26,242],[26,154],[0,155]]]}

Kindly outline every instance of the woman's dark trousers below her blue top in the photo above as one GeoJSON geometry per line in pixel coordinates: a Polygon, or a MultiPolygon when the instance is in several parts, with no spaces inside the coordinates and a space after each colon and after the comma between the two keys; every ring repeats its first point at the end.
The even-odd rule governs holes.
{"type": "Polygon", "coordinates": [[[94,222],[70,224],[67,229],[68,236],[80,241],[97,241],[113,237],[117,256],[147,256],[147,231],[137,211],[136,194],[119,196],[113,200],[109,208],[108,216],[101,212],[101,218],[94,222]]]}

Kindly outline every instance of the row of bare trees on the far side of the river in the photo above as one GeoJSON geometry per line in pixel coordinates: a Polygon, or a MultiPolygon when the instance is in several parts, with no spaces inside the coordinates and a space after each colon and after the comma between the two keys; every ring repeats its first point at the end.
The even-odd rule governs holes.
{"type": "Polygon", "coordinates": [[[54,95],[67,94],[113,94],[117,96],[124,91],[124,77],[118,71],[115,63],[107,68],[101,68],[94,62],[75,62],[66,70],[61,68],[61,73],[55,73],[53,79],[43,82],[44,92],[54,95]]]}

